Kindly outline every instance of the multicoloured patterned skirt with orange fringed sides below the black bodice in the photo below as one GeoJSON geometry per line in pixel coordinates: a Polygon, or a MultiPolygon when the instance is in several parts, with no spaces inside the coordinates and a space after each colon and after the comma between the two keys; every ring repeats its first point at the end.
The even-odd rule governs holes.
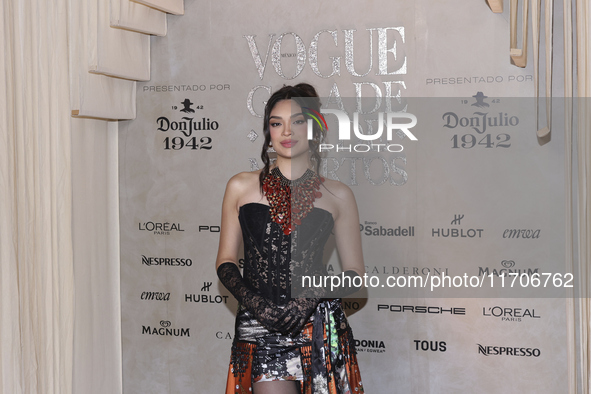
{"type": "Polygon", "coordinates": [[[321,301],[294,338],[269,332],[239,308],[226,394],[251,394],[253,383],[273,380],[300,381],[302,394],[363,393],[340,299],[321,301]]]}

